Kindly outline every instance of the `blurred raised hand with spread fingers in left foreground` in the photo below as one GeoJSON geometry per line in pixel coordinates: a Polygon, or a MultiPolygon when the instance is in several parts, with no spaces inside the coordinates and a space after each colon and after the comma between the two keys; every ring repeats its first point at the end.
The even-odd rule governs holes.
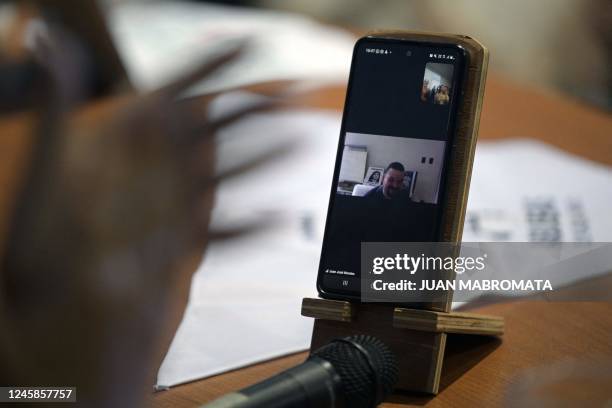
{"type": "Polygon", "coordinates": [[[217,129],[270,106],[210,122],[203,98],[177,99],[239,54],[78,110],[61,81],[49,84],[59,89],[37,115],[0,271],[3,384],[77,386],[88,405],[143,403],[210,239],[215,184],[284,149],[215,174],[217,129]]]}

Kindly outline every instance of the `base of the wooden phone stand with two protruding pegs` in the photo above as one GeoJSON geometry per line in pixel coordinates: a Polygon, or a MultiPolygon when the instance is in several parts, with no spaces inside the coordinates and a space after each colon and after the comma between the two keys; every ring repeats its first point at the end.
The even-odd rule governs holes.
{"type": "Polygon", "coordinates": [[[302,315],[315,318],[311,350],[334,338],[369,334],[387,344],[398,358],[396,388],[437,394],[447,333],[500,336],[504,320],[473,313],[406,309],[378,303],[304,298],[302,315]]]}

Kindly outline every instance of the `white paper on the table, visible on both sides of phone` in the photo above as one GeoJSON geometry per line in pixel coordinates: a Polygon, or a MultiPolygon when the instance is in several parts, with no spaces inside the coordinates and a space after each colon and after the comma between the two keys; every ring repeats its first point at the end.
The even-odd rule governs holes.
{"type": "MultiPolygon", "coordinates": [[[[249,98],[256,99],[228,95],[217,106],[224,111],[249,98]]],[[[159,370],[158,388],[308,347],[312,319],[300,316],[300,304],[304,296],[316,296],[339,130],[337,113],[294,111],[252,115],[221,133],[222,164],[283,141],[300,147],[220,186],[213,227],[270,215],[278,223],[208,248],[194,276],[185,317],[159,370]]],[[[464,241],[528,240],[525,203],[532,198],[559,208],[564,240],[581,234],[612,241],[612,169],[526,139],[479,143],[464,241]],[[568,202],[573,209],[568,210],[568,202]],[[576,206],[580,223],[571,221],[576,206]],[[478,229],[474,217],[484,217],[478,229]]]]}

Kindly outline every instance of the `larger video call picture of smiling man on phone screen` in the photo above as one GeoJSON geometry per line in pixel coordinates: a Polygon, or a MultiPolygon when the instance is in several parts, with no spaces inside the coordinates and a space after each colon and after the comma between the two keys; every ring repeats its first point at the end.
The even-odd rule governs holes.
{"type": "Polygon", "coordinates": [[[347,133],[336,192],[436,204],[445,142],[347,133]]]}

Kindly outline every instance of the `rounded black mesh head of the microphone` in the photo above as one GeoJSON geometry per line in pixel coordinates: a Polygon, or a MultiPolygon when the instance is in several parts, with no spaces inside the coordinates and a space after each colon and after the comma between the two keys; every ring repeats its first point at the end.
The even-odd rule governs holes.
{"type": "Polygon", "coordinates": [[[374,336],[334,339],[311,357],[328,361],[342,380],[345,406],[370,408],[393,391],[399,370],[393,352],[374,336]]]}

